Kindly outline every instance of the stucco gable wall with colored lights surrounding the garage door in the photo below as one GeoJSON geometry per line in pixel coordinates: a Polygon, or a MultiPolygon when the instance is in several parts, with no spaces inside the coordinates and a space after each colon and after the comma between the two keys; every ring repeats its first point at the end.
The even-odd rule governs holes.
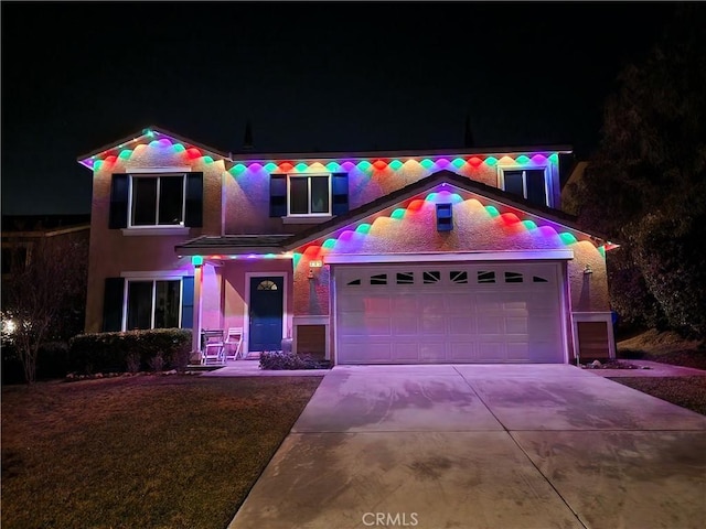
{"type": "MultiPolygon", "coordinates": [[[[395,208],[370,217],[360,224],[370,224],[367,233],[356,225],[341,230],[328,242],[317,241],[301,248],[301,258],[295,269],[295,311],[297,315],[329,314],[329,269],[314,269],[308,279],[309,262],[323,260],[330,253],[419,253],[425,251],[502,251],[570,249],[574,259],[567,263],[571,311],[608,311],[608,282],[606,261],[598,248],[581,234],[549,225],[537,217],[517,212],[520,220],[532,220],[537,227],[527,227],[517,217],[491,216],[470,193],[457,193],[453,205],[453,230],[437,231],[435,201],[443,202],[443,194],[435,199],[420,196],[407,204],[400,218],[391,215],[395,208]],[[462,195],[462,196],[461,196],[462,195]],[[571,234],[576,240],[559,234],[571,234]],[[585,274],[586,264],[592,273],[585,274]]],[[[450,194],[447,196],[451,196],[450,194]]],[[[530,225],[531,226],[531,225],[530,225]]]]}

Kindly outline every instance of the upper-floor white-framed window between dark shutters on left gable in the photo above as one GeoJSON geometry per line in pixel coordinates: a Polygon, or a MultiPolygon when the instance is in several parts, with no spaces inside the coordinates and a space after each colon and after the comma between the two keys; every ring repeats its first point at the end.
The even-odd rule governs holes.
{"type": "Polygon", "coordinates": [[[130,226],[183,226],[183,174],[130,175],[130,226]]]}

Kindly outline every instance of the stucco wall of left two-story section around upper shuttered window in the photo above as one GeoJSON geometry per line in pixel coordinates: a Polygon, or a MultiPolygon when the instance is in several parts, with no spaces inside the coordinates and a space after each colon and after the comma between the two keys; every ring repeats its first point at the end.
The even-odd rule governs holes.
{"type": "Polygon", "coordinates": [[[90,208],[90,255],[88,258],[88,295],[86,332],[98,332],[103,324],[105,279],[121,272],[178,270],[193,274],[190,258],[178,259],[174,246],[201,235],[221,235],[222,161],[191,158],[188,151],[171,147],[138,145],[127,159],[104,162],[94,171],[90,208]],[[108,228],[110,177],[113,173],[140,172],[153,168],[189,168],[203,172],[203,227],[189,228],[186,235],[128,236],[108,228]]]}

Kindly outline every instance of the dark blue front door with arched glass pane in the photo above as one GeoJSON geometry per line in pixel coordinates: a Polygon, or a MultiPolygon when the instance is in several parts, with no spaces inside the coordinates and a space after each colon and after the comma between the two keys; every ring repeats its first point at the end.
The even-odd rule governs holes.
{"type": "Polygon", "coordinates": [[[250,278],[248,350],[280,350],[285,278],[250,278]]]}

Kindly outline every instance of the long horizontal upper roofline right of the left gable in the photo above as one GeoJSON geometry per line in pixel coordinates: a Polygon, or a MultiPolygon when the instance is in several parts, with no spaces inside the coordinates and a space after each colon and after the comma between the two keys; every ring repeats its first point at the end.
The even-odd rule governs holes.
{"type": "Polygon", "coordinates": [[[443,156],[443,155],[470,155],[470,154],[511,154],[516,152],[557,152],[569,154],[574,152],[571,145],[548,144],[548,145],[520,145],[520,147],[474,147],[459,149],[408,149],[394,151],[333,151],[333,152],[263,152],[263,153],[231,153],[231,161],[269,161],[280,159],[300,160],[339,160],[342,158],[351,160],[365,160],[370,158],[419,158],[419,156],[443,156]]]}

